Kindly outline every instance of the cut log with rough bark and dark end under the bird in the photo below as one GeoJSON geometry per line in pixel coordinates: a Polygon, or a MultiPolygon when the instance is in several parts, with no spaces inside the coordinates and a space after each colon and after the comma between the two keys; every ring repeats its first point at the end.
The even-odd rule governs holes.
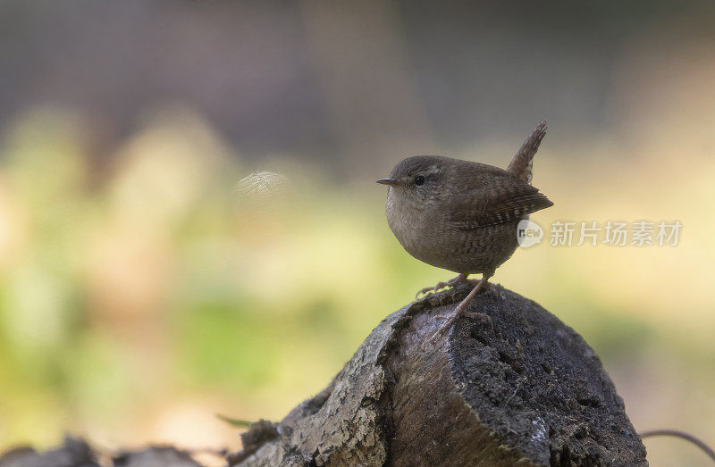
{"type": "Polygon", "coordinates": [[[471,286],[385,318],[332,382],[242,435],[238,465],[646,465],[593,349],[531,300],[491,285],[435,344],[471,286]]]}

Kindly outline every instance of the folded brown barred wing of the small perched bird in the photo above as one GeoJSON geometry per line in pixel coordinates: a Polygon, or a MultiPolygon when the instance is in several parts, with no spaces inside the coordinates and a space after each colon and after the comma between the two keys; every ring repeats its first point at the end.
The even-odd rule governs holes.
{"type": "Polygon", "coordinates": [[[458,229],[513,221],[553,205],[537,188],[509,175],[479,181],[479,187],[456,193],[448,203],[449,220],[458,229]]]}

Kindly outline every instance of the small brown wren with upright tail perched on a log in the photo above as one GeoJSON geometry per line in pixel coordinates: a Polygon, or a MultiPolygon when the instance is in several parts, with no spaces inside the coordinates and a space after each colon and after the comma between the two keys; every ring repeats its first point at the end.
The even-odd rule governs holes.
{"type": "Polygon", "coordinates": [[[475,288],[458,304],[433,339],[465,313],[494,271],[517,249],[517,224],[553,205],[530,185],[534,154],[546,122],[534,129],[507,170],[436,155],[417,155],[398,163],[387,179],[387,223],[409,254],[459,275],[417,295],[463,282],[475,288]],[[481,273],[478,282],[467,279],[481,273]]]}

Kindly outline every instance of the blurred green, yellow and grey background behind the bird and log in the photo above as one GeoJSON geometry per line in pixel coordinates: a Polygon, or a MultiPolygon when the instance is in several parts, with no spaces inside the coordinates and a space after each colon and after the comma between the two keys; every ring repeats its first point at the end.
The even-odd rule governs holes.
{"type": "Polygon", "coordinates": [[[713,83],[710,1],[0,1],[0,449],[238,449],[214,414],[280,420],[453,276],[402,250],[374,179],[506,166],[543,119],[534,221],[680,242],[547,242],[495,281],[584,335],[636,429],[712,445],[713,83]]]}

